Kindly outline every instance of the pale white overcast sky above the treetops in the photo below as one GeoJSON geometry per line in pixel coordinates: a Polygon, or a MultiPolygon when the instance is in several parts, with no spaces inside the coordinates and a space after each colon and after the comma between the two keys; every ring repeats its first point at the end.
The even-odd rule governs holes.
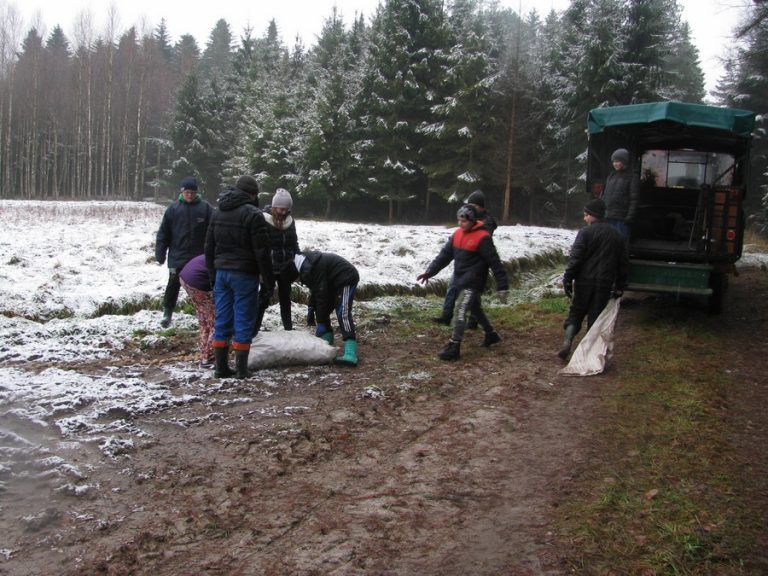
{"type": "MultiPolygon", "coordinates": [[[[90,11],[97,30],[104,28],[108,2],[88,0],[5,0],[20,9],[27,25],[42,23],[43,29],[50,30],[59,24],[67,35],[72,34],[78,15],[90,11]],[[41,22],[42,20],[42,22],[41,22]]],[[[0,0],[0,6],[3,0],[0,0]]],[[[515,11],[527,13],[536,8],[546,14],[551,9],[563,10],[569,0],[501,0],[501,5],[515,11]]],[[[693,40],[699,49],[702,69],[706,75],[707,91],[712,90],[722,73],[719,58],[724,56],[730,45],[730,35],[738,22],[741,8],[750,0],[678,0],[683,7],[683,19],[690,25],[693,40]]],[[[306,46],[313,45],[323,21],[331,14],[334,6],[349,25],[356,14],[369,19],[375,14],[379,0],[280,0],[278,2],[242,0],[219,0],[218,2],[189,2],[189,0],[132,0],[115,3],[119,16],[118,29],[136,25],[141,31],[152,30],[165,18],[171,37],[176,40],[181,34],[192,34],[201,46],[205,45],[214,24],[224,18],[235,34],[250,26],[254,33],[266,30],[271,19],[275,19],[285,43],[293,45],[296,35],[303,38],[306,46]]],[[[25,27],[25,29],[28,26],[25,27]]]]}

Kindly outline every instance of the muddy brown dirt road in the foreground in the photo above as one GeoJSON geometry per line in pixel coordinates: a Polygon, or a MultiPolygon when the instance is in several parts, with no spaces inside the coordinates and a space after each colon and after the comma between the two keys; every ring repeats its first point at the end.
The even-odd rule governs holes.
{"type": "MultiPolygon", "coordinates": [[[[745,465],[754,477],[768,445],[766,296],[768,273],[745,271],[722,332],[745,383],[734,442],[763,456],[745,465]]],[[[134,417],[141,432],[111,457],[95,439],[72,453],[51,431],[84,477],[6,485],[0,574],[563,574],[552,511],[594,457],[590,415],[643,305],[622,310],[616,368],[586,379],[557,375],[555,325],[502,331],[491,349],[471,333],[462,360],[444,363],[445,329],[381,317],[361,326],[356,369],[248,381],[168,380],[158,363],[183,361],[181,348],[126,351],[120,365],[200,400],[134,417]]]]}

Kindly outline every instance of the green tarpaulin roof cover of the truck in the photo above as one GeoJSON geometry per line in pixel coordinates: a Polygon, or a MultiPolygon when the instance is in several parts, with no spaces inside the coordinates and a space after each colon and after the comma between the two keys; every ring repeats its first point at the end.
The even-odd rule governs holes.
{"type": "Polygon", "coordinates": [[[749,137],[755,126],[755,113],[703,104],[652,102],[594,108],[589,112],[587,128],[590,134],[599,134],[611,126],[648,124],[664,120],[685,126],[725,130],[738,136],[749,137]]]}

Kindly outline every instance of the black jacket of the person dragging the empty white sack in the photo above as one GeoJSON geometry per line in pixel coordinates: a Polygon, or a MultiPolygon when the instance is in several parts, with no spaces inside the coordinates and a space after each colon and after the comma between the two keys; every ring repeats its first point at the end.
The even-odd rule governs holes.
{"type": "Polygon", "coordinates": [[[604,221],[585,226],[576,235],[563,275],[563,284],[623,290],[627,285],[629,255],[621,232],[604,221]]]}

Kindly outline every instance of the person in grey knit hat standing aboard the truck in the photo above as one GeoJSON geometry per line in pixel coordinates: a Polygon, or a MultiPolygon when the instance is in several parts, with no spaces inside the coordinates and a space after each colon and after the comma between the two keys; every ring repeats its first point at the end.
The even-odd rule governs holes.
{"type": "Polygon", "coordinates": [[[619,148],[611,154],[613,172],[605,180],[605,222],[629,238],[640,195],[640,178],[629,169],[629,150],[619,148]]]}

